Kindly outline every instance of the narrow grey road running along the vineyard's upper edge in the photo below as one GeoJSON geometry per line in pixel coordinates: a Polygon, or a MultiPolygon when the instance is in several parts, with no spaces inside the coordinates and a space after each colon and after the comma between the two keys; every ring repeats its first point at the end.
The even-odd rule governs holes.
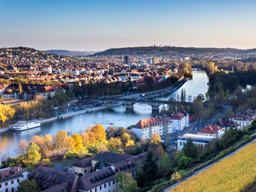
{"type": "MultiPolygon", "coordinates": [[[[255,134],[256,134],[256,133],[255,133],[255,134]]],[[[255,135],[255,134],[253,134],[253,135],[255,135]]],[[[251,142],[249,142],[248,144],[245,144],[245,145],[243,145],[242,147],[240,147],[239,149],[235,150],[233,153],[230,153],[228,156],[225,156],[225,157],[223,157],[222,159],[220,159],[220,160],[218,160],[218,161],[215,161],[215,162],[212,163],[212,164],[209,164],[207,167],[204,167],[204,168],[202,168],[201,170],[196,171],[195,173],[193,173],[193,175],[188,176],[187,178],[183,179],[181,182],[177,182],[176,184],[171,185],[171,186],[168,187],[168,188],[165,188],[164,191],[170,191],[172,188],[175,188],[177,185],[180,185],[182,182],[184,182],[184,181],[186,181],[186,180],[188,180],[188,179],[191,179],[191,177],[196,176],[198,173],[201,173],[202,171],[207,170],[208,168],[210,168],[210,167],[213,166],[214,164],[217,164],[219,161],[222,161],[223,159],[226,159],[226,158],[228,158],[229,156],[234,156],[234,154],[237,153],[237,151],[242,150],[243,147],[246,147],[247,145],[252,144],[252,143],[254,143],[254,142],[256,142],[256,138],[255,138],[254,140],[252,140],[251,142]]]]}

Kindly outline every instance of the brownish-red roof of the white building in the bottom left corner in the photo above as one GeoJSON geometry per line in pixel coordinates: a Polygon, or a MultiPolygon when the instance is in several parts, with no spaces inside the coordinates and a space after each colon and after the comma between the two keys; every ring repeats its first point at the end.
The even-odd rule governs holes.
{"type": "Polygon", "coordinates": [[[0,170],[0,182],[6,181],[7,179],[22,175],[22,173],[26,172],[22,167],[7,167],[5,169],[0,170]]]}

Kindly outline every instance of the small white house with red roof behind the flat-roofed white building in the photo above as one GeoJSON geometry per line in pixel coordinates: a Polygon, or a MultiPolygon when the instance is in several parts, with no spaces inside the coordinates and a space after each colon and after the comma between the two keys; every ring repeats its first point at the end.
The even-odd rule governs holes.
{"type": "Polygon", "coordinates": [[[211,136],[216,138],[221,138],[224,134],[225,128],[219,127],[217,125],[210,125],[198,131],[199,135],[211,136]]]}

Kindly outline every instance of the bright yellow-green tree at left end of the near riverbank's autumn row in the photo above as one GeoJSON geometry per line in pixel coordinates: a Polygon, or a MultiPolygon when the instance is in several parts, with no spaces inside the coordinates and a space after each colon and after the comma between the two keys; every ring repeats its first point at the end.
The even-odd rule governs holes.
{"type": "Polygon", "coordinates": [[[29,164],[38,164],[41,159],[41,154],[39,153],[40,148],[37,144],[31,142],[27,147],[27,153],[23,158],[23,163],[26,165],[29,164]]]}

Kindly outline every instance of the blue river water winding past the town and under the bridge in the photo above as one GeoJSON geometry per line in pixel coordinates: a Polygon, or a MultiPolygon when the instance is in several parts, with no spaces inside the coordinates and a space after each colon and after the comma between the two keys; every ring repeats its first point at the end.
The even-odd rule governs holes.
{"type": "MultiPolygon", "coordinates": [[[[159,100],[168,100],[170,97],[180,95],[182,89],[185,89],[186,95],[196,97],[208,91],[208,77],[205,71],[193,71],[193,79],[186,82],[178,91],[172,95],[159,97],[159,100]]],[[[42,124],[36,129],[29,129],[21,133],[4,132],[0,134],[0,160],[3,156],[16,156],[16,149],[19,141],[26,140],[30,142],[33,135],[56,134],[59,130],[69,131],[71,133],[83,132],[94,124],[102,124],[104,128],[109,126],[129,127],[136,124],[143,118],[152,117],[151,106],[146,103],[135,103],[133,111],[127,111],[125,106],[115,106],[109,109],[103,109],[92,114],[84,113],[65,118],[64,121],[52,121],[42,124]]]]}

